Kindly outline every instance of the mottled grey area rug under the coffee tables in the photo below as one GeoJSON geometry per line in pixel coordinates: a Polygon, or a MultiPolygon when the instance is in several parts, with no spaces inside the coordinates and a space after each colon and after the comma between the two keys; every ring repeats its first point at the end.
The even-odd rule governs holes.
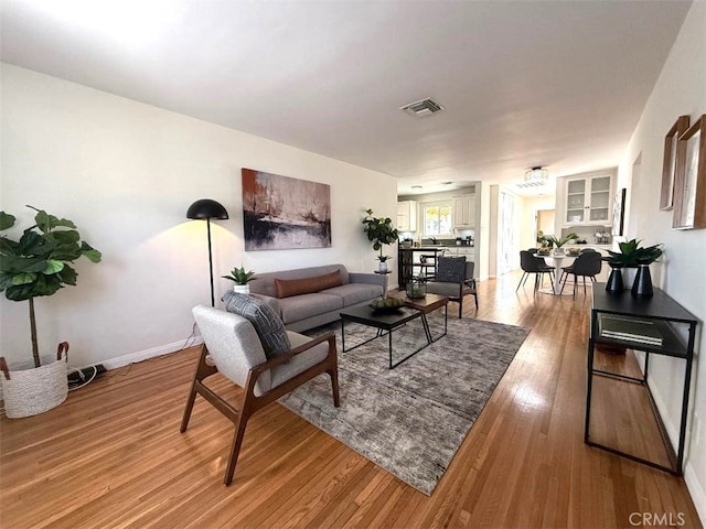
{"type": "MultiPolygon", "coordinates": [[[[432,335],[443,328],[431,314],[432,335]]],[[[448,334],[394,369],[387,336],[341,352],[341,324],[309,335],[336,334],[341,407],[333,407],[325,375],[279,402],[426,495],[434,492],[453,455],[512,361],[530,330],[449,317],[448,334]]],[[[375,330],[345,325],[345,345],[375,330]]],[[[393,333],[395,361],[425,342],[420,321],[393,333]]]]}

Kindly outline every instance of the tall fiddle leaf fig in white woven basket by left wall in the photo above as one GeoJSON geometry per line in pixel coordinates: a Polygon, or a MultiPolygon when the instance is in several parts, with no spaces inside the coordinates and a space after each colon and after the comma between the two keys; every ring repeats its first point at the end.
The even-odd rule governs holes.
{"type": "MultiPolygon", "coordinates": [[[[10,365],[0,357],[6,415],[11,419],[52,409],[66,399],[68,390],[68,344],[62,342],[54,358],[40,356],[34,298],[53,295],[66,285],[75,285],[78,273],[72,264],[81,257],[90,262],[99,262],[101,258],[98,250],[81,240],[73,222],[28,207],[36,212],[34,225],[17,240],[6,235],[0,237],[0,292],[10,301],[29,302],[32,339],[31,364],[10,365]]],[[[0,212],[0,231],[12,228],[15,220],[13,215],[0,212]]]]}

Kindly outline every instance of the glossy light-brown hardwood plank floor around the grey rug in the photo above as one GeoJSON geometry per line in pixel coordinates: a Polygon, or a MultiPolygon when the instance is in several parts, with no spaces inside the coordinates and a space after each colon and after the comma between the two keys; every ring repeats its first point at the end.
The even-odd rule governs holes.
{"type": "MultiPolygon", "coordinates": [[[[682,478],[584,444],[590,294],[515,294],[518,279],[480,283],[478,314],[467,303],[467,317],[532,333],[430,497],[277,403],[250,421],[224,487],[231,422],[199,398],[179,433],[192,348],[109,371],[39,417],[2,418],[0,527],[609,528],[645,514],[700,527],[682,478]]],[[[617,425],[600,419],[632,398],[603,386],[596,428],[660,453],[643,403],[617,425]]]]}

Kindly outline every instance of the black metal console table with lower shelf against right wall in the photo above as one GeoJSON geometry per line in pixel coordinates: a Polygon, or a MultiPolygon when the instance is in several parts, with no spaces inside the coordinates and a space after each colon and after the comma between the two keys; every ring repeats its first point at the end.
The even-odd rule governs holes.
{"type": "Polygon", "coordinates": [[[650,298],[635,298],[629,290],[621,293],[606,292],[606,283],[593,283],[590,336],[588,341],[588,380],[586,396],[586,424],[584,442],[633,461],[682,475],[684,462],[684,441],[688,411],[692,364],[694,360],[694,341],[698,320],[694,314],[670,298],[664,291],[654,289],[650,298]],[[643,375],[640,378],[624,374],[597,369],[593,366],[595,348],[598,344],[622,346],[642,350],[645,354],[643,375]],[[682,393],[682,413],[676,452],[665,432],[648,384],[650,355],[664,355],[684,360],[684,391],[682,393]],[[655,414],[667,456],[672,463],[660,463],[629,454],[616,447],[597,443],[590,438],[591,390],[595,376],[610,377],[618,381],[639,384],[644,387],[652,411],[655,414]]]}

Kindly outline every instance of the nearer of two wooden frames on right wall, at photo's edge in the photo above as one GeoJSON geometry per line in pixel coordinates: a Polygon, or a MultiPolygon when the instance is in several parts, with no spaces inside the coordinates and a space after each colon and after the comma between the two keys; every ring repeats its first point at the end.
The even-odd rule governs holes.
{"type": "Polygon", "coordinates": [[[706,115],[676,144],[672,227],[706,228],[706,115]]]}

